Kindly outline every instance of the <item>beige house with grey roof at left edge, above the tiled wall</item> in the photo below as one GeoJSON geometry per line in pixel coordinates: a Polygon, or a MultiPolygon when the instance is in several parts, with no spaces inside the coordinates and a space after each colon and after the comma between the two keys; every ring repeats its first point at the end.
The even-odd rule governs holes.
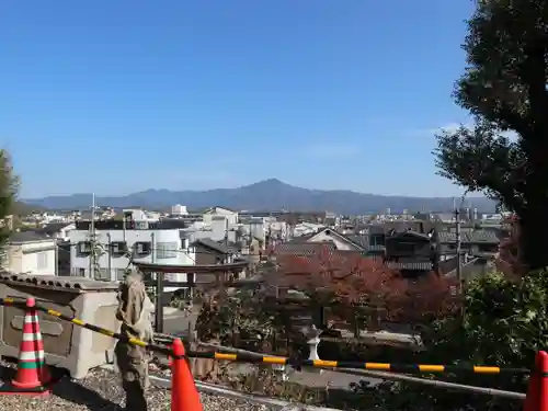
{"type": "Polygon", "coordinates": [[[33,231],[13,232],[2,267],[15,274],[56,275],[57,241],[33,231]]]}

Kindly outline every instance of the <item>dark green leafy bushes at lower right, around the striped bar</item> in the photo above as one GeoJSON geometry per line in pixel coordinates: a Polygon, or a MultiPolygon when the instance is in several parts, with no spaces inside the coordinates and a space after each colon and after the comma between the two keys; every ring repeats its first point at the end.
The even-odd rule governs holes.
{"type": "MultiPolygon", "coordinates": [[[[525,276],[518,282],[502,274],[476,278],[466,290],[464,318],[435,321],[424,335],[427,351],[420,353],[416,362],[532,367],[535,353],[548,346],[547,305],[547,272],[525,276]]],[[[507,374],[452,374],[443,378],[518,392],[526,391],[527,383],[524,376],[507,374]]],[[[385,383],[375,392],[379,406],[407,411],[523,408],[523,403],[504,398],[425,388],[410,383],[385,383]]]]}

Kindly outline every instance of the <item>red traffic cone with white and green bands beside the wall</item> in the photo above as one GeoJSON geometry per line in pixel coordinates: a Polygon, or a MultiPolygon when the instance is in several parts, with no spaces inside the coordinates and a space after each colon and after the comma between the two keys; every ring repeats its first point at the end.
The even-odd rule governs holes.
{"type": "Polygon", "coordinates": [[[48,395],[52,377],[44,355],[44,343],[39,332],[38,312],[34,298],[26,300],[23,338],[19,349],[18,374],[11,387],[2,387],[0,393],[48,395]]]}

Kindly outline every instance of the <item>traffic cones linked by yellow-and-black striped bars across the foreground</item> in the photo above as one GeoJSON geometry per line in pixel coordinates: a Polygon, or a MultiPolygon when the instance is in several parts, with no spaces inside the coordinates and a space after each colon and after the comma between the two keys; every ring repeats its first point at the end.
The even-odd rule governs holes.
{"type": "MultiPolygon", "coordinates": [[[[203,411],[199,393],[196,389],[194,378],[189,367],[189,357],[213,358],[221,361],[235,361],[247,363],[298,365],[329,368],[357,368],[368,370],[402,372],[402,373],[444,373],[444,372],[471,372],[478,374],[530,373],[525,368],[501,368],[494,366],[446,366],[426,364],[390,364],[390,363],[355,363],[322,359],[294,361],[286,357],[263,356],[252,354],[227,354],[218,352],[189,352],[185,353],[183,342],[180,339],[173,341],[171,350],[165,346],[148,344],[136,339],[127,339],[124,335],[85,323],[76,318],[61,315],[35,305],[34,298],[26,302],[12,298],[0,299],[0,305],[16,306],[25,310],[23,335],[18,362],[18,373],[12,380],[11,387],[2,387],[2,393],[20,395],[44,395],[49,393],[52,377],[45,364],[44,345],[39,332],[37,311],[46,312],[70,321],[77,326],[87,328],[101,334],[127,341],[130,344],[147,347],[152,351],[164,353],[171,359],[171,410],[172,411],[203,411]]],[[[525,399],[524,411],[548,411],[548,354],[539,352],[536,357],[535,367],[529,378],[529,386],[525,399]]]]}

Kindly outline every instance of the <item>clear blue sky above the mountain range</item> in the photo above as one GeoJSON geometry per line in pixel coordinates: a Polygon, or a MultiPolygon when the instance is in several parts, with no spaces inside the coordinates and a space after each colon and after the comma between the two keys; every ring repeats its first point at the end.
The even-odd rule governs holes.
{"type": "Polygon", "coordinates": [[[0,12],[0,146],[23,197],[150,187],[457,195],[433,133],[472,2],[16,1],[0,12]]]}

